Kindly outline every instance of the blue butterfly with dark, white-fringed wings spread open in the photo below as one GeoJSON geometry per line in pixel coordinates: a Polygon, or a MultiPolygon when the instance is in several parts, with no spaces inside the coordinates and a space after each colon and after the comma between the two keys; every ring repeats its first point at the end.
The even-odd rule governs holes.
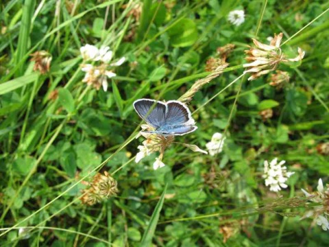
{"type": "Polygon", "coordinates": [[[197,129],[188,107],[178,100],[160,102],[154,99],[137,99],[134,108],[154,131],[145,131],[162,135],[183,135],[197,129]]]}

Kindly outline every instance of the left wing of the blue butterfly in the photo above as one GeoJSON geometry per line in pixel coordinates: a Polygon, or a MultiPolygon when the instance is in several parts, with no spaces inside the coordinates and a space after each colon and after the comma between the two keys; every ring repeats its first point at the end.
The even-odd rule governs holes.
{"type": "Polygon", "coordinates": [[[154,128],[164,125],[166,104],[154,99],[138,99],[134,102],[134,109],[144,121],[154,128]]]}

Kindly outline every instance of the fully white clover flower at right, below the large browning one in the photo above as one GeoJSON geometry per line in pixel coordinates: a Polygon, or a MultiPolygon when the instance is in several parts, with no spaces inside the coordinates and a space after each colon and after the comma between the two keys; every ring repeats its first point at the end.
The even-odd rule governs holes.
{"type": "Polygon", "coordinates": [[[280,191],[281,188],[285,189],[288,187],[286,184],[288,178],[295,172],[287,172],[287,167],[283,166],[286,161],[280,161],[278,158],[274,158],[270,163],[264,161],[264,175],[265,185],[269,186],[270,191],[280,191]]]}

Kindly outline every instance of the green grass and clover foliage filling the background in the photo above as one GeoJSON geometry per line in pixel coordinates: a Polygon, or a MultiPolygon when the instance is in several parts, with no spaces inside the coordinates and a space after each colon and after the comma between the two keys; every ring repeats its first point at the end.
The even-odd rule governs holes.
{"type": "Polygon", "coordinates": [[[306,204],[301,189],[328,182],[328,151],[319,145],[329,146],[329,4],[143,2],[1,3],[0,245],[327,246],[314,217],[301,220],[319,206],[306,204]],[[245,22],[230,24],[232,10],[245,10],[245,22]],[[273,72],[248,81],[252,38],[268,44],[280,32],[287,57],[306,51],[302,62],[279,65],[289,83],[270,86],[273,72]],[[126,58],[111,68],[117,76],[107,92],[82,82],[87,43],[126,58]],[[206,61],[229,43],[230,66],[188,102],[198,129],[175,137],[165,167],[152,169],[158,153],[135,163],[144,139],[136,139],[143,122],[133,102],[184,98],[211,76],[206,61]],[[52,56],[44,74],[30,61],[42,50],[52,56]],[[273,116],[263,120],[259,112],[269,108],[273,116]],[[215,132],[226,137],[215,156],[179,145],[206,150],[215,132]],[[262,177],[264,161],[275,157],[295,172],[278,193],[262,177]],[[119,193],[82,204],[86,182],[104,171],[119,193]]]}

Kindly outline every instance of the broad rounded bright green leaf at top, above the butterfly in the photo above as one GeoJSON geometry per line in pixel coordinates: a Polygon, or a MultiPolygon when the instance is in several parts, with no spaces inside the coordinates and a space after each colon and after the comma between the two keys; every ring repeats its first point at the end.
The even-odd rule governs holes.
{"type": "Polygon", "coordinates": [[[191,19],[184,18],[168,30],[173,47],[188,47],[197,41],[197,26],[191,19]]]}

